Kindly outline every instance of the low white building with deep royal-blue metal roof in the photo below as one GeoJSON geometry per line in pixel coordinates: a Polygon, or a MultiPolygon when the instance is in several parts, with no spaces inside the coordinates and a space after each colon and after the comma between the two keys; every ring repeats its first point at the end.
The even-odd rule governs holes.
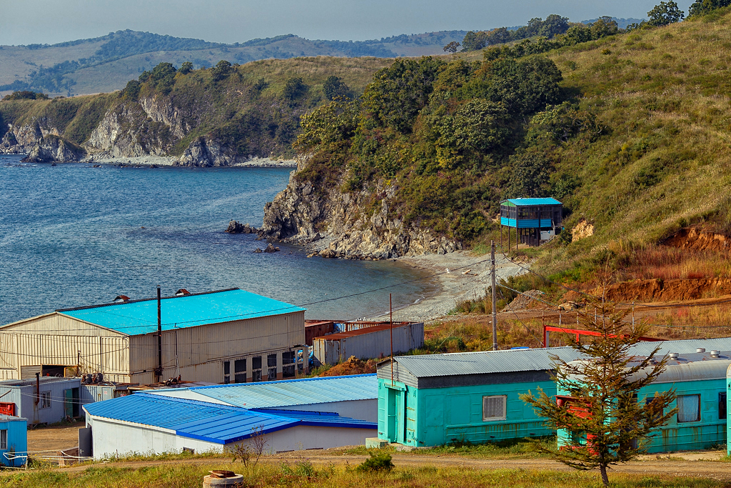
{"type": "MultiPolygon", "coordinates": [[[[135,393],[84,405],[96,459],[132,453],[221,452],[264,442],[265,454],[362,445],[377,424],[302,410],[254,410],[135,393]]],[[[86,451],[86,446],[83,446],[86,451]]]]}

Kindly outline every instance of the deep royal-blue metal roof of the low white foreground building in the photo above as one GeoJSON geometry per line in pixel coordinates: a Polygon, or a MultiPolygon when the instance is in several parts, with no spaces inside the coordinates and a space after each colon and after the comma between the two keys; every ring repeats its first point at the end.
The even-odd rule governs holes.
{"type": "Polygon", "coordinates": [[[83,405],[91,416],[132,422],[175,431],[185,438],[227,444],[250,438],[254,429],[261,433],[314,425],[322,427],[355,427],[376,429],[373,422],[340,417],[337,414],[317,416],[308,412],[254,411],[246,408],[200,402],[191,399],[135,393],[83,405]]]}

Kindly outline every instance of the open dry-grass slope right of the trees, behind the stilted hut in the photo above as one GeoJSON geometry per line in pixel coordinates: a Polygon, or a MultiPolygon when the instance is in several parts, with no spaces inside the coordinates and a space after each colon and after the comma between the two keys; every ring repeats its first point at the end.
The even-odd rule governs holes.
{"type": "Polygon", "coordinates": [[[731,235],[730,23],[723,9],[551,53],[566,93],[606,129],[554,146],[554,171],[577,183],[565,225],[585,218],[595,233],[550,249],[548,270],[619,269],[692,224],[731,235]]]}

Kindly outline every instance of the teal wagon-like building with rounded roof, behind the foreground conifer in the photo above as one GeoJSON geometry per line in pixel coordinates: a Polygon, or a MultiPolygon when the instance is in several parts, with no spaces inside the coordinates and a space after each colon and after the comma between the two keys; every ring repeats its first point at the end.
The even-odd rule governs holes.
{"type": "MultiPolygon", "coordinates": [[[[678,408],[670,421],[645,440],[648,453],[693,451],[727,445],[727,369],[731,352],[670,353],[667,368],[651,385],[642,388],[637,401],[649,402],[656,394],[675,390],[678,408]]],[[[558,391],[559,395],[569,395],[558,391]]],[[[558,429],[558,446],[586,445],[581,432],[558,429]]]]}

